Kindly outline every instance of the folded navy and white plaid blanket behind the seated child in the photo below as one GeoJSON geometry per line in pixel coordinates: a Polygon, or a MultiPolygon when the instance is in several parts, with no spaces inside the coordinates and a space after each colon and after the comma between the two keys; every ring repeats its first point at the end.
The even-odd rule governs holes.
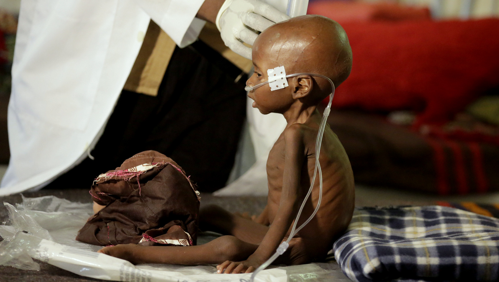
{"type": "Polygon", "coordinates": [[[446,206],[361,208],[333,246],[363,281],[498,281],[499,219],[446,206]]]}

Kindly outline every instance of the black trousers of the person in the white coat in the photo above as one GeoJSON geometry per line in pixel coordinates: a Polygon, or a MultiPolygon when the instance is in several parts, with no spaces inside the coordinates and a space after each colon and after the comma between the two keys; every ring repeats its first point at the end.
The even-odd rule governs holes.
{"type": "Polygon", "coordinates": [[[246,116],[246,75],[201,41],[176,48],[156,97],[123,90],[91,154],[46,188],[90,188],[100,173],[157,150],[200,191],[224,186],[246,116]]]}

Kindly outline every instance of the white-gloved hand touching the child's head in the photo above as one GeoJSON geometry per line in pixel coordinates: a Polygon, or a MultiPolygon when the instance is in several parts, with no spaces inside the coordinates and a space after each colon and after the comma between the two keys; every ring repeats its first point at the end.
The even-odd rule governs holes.
{"type": "Polygon", "coordinates": [[[240,41],[253,45],[258,34],[250,28],[263,31],[270,25],[288,18],[289,16],[272,5],[260,0],[226,0],[217,14],[215,23],[225,45],[251,59],[251,48],[240,41]]]}

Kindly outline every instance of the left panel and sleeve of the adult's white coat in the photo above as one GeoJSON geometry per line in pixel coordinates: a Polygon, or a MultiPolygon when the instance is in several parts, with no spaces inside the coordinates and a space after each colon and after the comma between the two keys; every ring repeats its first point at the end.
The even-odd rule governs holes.
{"type": "Polygon", "coordinates": [[[0,195],[42,187],[102,134],[152,18],[181,47],[204,0],[22,0],[0,195]]]}

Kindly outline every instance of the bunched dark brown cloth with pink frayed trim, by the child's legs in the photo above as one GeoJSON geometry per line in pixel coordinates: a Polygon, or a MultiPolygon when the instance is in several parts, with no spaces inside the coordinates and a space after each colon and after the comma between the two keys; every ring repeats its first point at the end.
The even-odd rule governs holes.
{"type": "Polygon", "coordinates": [[[94,245],[195,245],[199,192],[171,158],[144,151],[100,174],[92,200],[105,205],[76,239],[94,245]]]}

